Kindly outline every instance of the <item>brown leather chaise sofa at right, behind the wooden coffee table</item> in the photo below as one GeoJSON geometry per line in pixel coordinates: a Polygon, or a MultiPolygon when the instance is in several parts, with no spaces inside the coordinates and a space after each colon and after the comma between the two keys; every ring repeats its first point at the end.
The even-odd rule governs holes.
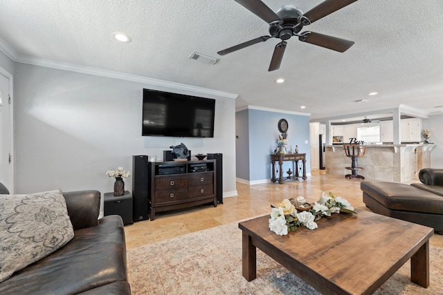
{"type": "Polygon", "coordinates": [[[419,171],[422,183],[365,181],[363,202],[375,213],[433,227],[443,233],[443,169],[419,171]]]}

